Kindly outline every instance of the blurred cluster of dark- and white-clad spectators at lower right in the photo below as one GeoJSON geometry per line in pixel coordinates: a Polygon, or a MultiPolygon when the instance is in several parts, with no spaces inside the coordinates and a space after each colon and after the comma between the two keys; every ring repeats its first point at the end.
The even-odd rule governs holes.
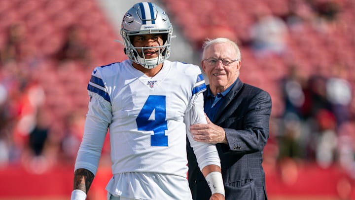
{"type": "Polygon", "coordinates": [[[329,77],[299,76],[297,66],[280,80],[284,112],[275,137],[279,159],[315,161],[321,167],[339,164],[355,178],[354,85],[346,66],[337,65],[329,77]]]}

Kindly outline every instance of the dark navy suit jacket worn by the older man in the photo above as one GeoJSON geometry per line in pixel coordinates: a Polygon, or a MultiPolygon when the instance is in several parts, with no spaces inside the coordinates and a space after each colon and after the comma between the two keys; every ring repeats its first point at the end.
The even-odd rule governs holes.
{"type": "MultiPolygon", "coordinates": [[[[209,89],[209,85],[208,85],[209,89]]],[[[206,99],[207,91],[204,93],[206,99]]],[[[214,120],[228,140],[216,144],[226,200],[267,200],[262,152],[269,138],[270,95],[239,78],[225,96],[214,120]]],[[[188,143],[188,179],[194,200],[209,200],[211,191],[188,143]]]]}

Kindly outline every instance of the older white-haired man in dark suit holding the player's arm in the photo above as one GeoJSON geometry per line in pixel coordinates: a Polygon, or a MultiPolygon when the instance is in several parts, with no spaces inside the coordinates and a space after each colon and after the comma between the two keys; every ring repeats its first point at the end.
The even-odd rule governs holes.
{"type": "MultiPolygon", "coordinates": [[[[208,124],[190,126],[194,140],[216,144],[226,200],[267,200],[262,155],[269,138],[271,97],[238,78],[242,62],[235,42],[206,40],[202,58],[210,82],[204,92],[208,124]]],[[[187,152],[193,199],[209,200],[208,183],[189,145],[187,152]]]]}

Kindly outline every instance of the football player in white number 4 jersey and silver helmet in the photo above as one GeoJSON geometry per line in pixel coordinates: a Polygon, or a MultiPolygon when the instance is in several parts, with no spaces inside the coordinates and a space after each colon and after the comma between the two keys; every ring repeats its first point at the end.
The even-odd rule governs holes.
{"type": "Polygon", "coordinates": [[[215,146],[194,141],[188,129],[207,123],[205,80],[198,66],[167,60],[172,34],[168,15],[154,3],[137,3],[123,17],[121,36],[129,59],[92,72],[71,200],[86,199],[107,130],[113,174],[107,199],[191,200],[187,135],[210,184],[211,200],[224,200],[215,146]]]}

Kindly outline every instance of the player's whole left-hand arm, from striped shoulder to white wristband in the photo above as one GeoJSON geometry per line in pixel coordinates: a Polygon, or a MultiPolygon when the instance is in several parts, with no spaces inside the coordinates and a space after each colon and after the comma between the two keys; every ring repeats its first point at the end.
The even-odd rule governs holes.
{"type": "MultiPolygon", "coordinates": [[[[96,72],[96,69],[94,72],[96,72]]],[[[88,86],[90,95],[89,110],[86,115],[83,139],[75,160],[71,200],[86,199],[86,194],[98,169],[108,124],[112,119],[108,94],[105,89],[97,86],[98,84],[100,85],[100,80],[102,79],[99,77],[92,78],[88,86]],[[93,85],[93,83],[96,85],[93,85]],[[102,92],[98,92],[99,89],[102,92]]]]}

